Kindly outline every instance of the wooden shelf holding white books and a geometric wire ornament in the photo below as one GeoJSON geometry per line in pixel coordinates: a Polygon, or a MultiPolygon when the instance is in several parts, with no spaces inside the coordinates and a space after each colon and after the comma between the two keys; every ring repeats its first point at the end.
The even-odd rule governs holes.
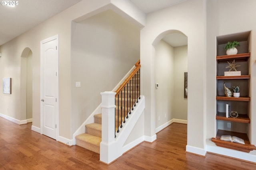
{"type": "Polygon", "coordinates": [[[250,118],[247,114],[238,114],[237,118],[226,118],[226,113],[224,112],[218,112],[216,115],[217,120],[226,120],[231,122],[240,122],[240,123],[250,123],[250,118]]]}

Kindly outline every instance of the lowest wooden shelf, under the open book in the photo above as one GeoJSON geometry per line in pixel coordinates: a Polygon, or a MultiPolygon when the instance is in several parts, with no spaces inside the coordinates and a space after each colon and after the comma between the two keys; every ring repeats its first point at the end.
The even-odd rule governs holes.
{"type": "Polygon", "coordinates": [[[220,146],[220,147],[239,150],[247,153],[249,153],[252,150],[256,150],[255,145],[250,144],[248,136],[245,133],[232,132],[227,130],[218,130],[216,138],[212,138],[212,142],[214,142],[217,146],[220,146]],[[225,140],[220,140],[220,136],[222,135],[237,136],[238,138],[242,138],[245,144],[239,144],[236,142],[228,142],[225,140]]]}

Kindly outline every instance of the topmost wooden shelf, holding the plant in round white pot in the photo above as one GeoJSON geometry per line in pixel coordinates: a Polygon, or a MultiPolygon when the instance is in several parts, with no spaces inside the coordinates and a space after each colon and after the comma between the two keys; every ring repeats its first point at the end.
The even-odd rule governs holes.
{"type": "Polygon", "coordinates": [[[247,61],[251,56],[251,53],[243,53],[243,54],[235,54],[235,55],[226,55],[226,56],[216,56],[216,60],[218,63],[227,62],[230,60],[239,60],[239,61],[247,61]]]}

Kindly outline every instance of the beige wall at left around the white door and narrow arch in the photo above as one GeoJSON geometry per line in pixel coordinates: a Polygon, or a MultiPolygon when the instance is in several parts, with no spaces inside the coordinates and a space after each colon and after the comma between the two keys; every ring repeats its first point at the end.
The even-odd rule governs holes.
{"type": "MultiPolygon", "coordinates": [[[[0,93],[0,113],[17,120],[23,120],[26,117],[24,112],[21,111],[21,54],[25,48],[30,48],[33,52],[32,64],[32,99],[33,99],[33,125],[32,127],[40,130],[40,41],[46,38],[55,36],[59,37],[59,116],[58,116],[58,136],[63,138],[72,139],[71,131],[74,127],[79,126],[72,122],[72,108],[71,108],[71,87],[74,86],[71,81],[71,23],[76,20],[82,21],[86,18],[112,9],[118,14],[127,18],[135,24],[141,26],[144,24],[144,14],[134,8],[132,3],[120,0],[83,0],[78,4],[64,10],[60,14],[42,22],[29,31],[21,34],[13,40],[0,46],[2,57],[0,58],[0,79],[5,77],[12,78],[12,94],[6,95],[0,93]],[[118,8],[116,7],[118,6],[118,8]],[[122,12],[122,8],[126,8],[126,12],[122,12]],[[132,14],[133,17],[130,17],[132,14]],[[137,18],[136,18],[137,17],[137,18]],[[74,127],[71,128],[72,123],[74,127]]],[[[82,73],[83,74],[83,73],[82,73]]],[[[2,88],[2,84],[0,85],[2,88]]],[[[94,91],[93,89],[91,89],[94,91]]],[[[111,90],[111,89],[110,89],[111,90]]],[[[100,95],[100,94],[99,94],[100,95]]],[[[23,109],[24,110],[24,109],[23,109]]],[[[75,115],[76,116],[76,115],[75,115]]],[[[79,119],[79,118],[75,118],[79,119]]]]}

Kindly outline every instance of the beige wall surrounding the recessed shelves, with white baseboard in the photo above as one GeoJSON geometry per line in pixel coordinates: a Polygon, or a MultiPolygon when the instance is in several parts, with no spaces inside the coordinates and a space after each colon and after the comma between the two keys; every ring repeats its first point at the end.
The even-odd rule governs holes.
{"type": "MultiPolygon", "coordinates": [[[[207,133],[206,140],[209,146],[211,138],[216,136],[216,37],[251,30],[250,38],[250,142],[256,145],[256,1],[255,0],[207,0],[207,133]],[[236,16],[236,17],[230,17],[236,16]]],[[[210,147],[208,147],[210,148],[210,147]]],[[[249,154],[227,150],[226,148],[214,148],[221,154],[255,162],[256,150],[249,154]],[[232,154],[231,154],[232,153],[232,154]]]]}

